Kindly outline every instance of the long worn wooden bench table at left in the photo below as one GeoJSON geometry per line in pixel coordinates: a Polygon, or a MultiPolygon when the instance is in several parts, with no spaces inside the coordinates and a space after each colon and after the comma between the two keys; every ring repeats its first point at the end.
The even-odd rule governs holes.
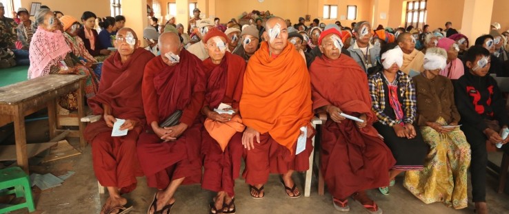
{"type": "MultiPolygon", "coordinates": [[[[21,83],[0,87],[0,126],[14,122],[14,137],[16,139],[17,164],[28,173],[28,156],[26,152],[25,116],[48,107],[48,121],[50,138],[54,138],[61,131],[57,129],[56,100],[69,92],[78,93],[78,115],[84,115],[83,89],[84,75],[52,74],[33,78],[21,83]]],[[[83,122],[79,124],[79,131],[69,131],[80,137],[80,145],[86,145],[83,139],[83,122]]]]}

